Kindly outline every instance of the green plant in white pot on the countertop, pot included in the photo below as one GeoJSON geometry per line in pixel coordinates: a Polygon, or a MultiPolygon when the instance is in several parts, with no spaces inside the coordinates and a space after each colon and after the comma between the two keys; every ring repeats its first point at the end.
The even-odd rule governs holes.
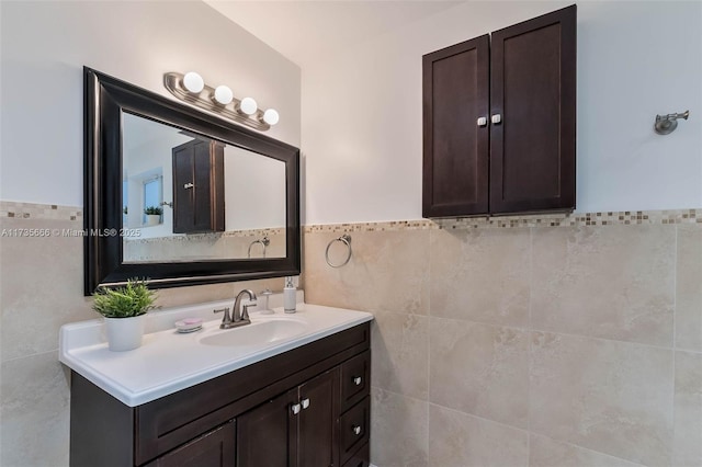
{"type": "Polygon", "coordinates": [[[121,352],[141,345],[146,312],[156,308],[156,293],[146,281],[134,278],[124,286],[100,287],[92,296],[92,309],[105,318],[110,350],[121,352]]]}

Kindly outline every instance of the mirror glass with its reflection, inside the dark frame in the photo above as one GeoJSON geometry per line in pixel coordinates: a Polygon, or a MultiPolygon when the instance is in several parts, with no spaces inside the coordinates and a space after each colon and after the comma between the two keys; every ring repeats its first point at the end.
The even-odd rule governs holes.
{"type": "Polygon", "coordinates": [[[285,162],[126,112],[122,138],[124,263],[285,258],[285,162]]]}

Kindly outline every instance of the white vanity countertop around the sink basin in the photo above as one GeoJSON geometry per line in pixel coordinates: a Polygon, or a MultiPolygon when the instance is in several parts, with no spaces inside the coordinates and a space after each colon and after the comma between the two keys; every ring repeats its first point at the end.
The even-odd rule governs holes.
{"type": "Polygon", "coordinates": [[[144,335],[140,348],[127,352],[107,350],[101,318],[65,324],[59,360],[125,405],[136,407],[373,319],[364,311],[297,304],[293,315],[274,308],[273,315],[253,311],[250,316],[253,323],[279,317],[301,321],[306,327],[302,334],[244,348],[200,343],[203,335],[236,331],[220,331],[222,319],[212,314],[214,308],[231,306],[230,301],[151,312],[147,315],[147,332],[152,332],[144,335]],[[173,323],[185,317],[206,321],[200,331],[179,333],[173,323]]]}

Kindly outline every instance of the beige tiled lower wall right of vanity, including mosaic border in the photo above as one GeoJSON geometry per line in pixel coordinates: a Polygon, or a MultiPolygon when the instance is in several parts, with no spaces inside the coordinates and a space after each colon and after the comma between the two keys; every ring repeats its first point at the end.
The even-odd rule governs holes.
{"type": "Polygon", "coordinates": [[[378,467],[702,465],[699,209],[307,226],[303,267],[375,315],[378,467]]]}

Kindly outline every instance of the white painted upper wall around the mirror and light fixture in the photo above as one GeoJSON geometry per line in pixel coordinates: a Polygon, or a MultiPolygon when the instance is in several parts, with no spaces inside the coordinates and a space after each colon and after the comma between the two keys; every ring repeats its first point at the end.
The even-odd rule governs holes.
{"type": "Polygon", "coordinates": [[[202,2],[1,8],[0,200],[82,206],[83,65],[169,98],[165,72],[197,70],[278,109],[267,134],[299,146],[299,67],[202,2]]]}

